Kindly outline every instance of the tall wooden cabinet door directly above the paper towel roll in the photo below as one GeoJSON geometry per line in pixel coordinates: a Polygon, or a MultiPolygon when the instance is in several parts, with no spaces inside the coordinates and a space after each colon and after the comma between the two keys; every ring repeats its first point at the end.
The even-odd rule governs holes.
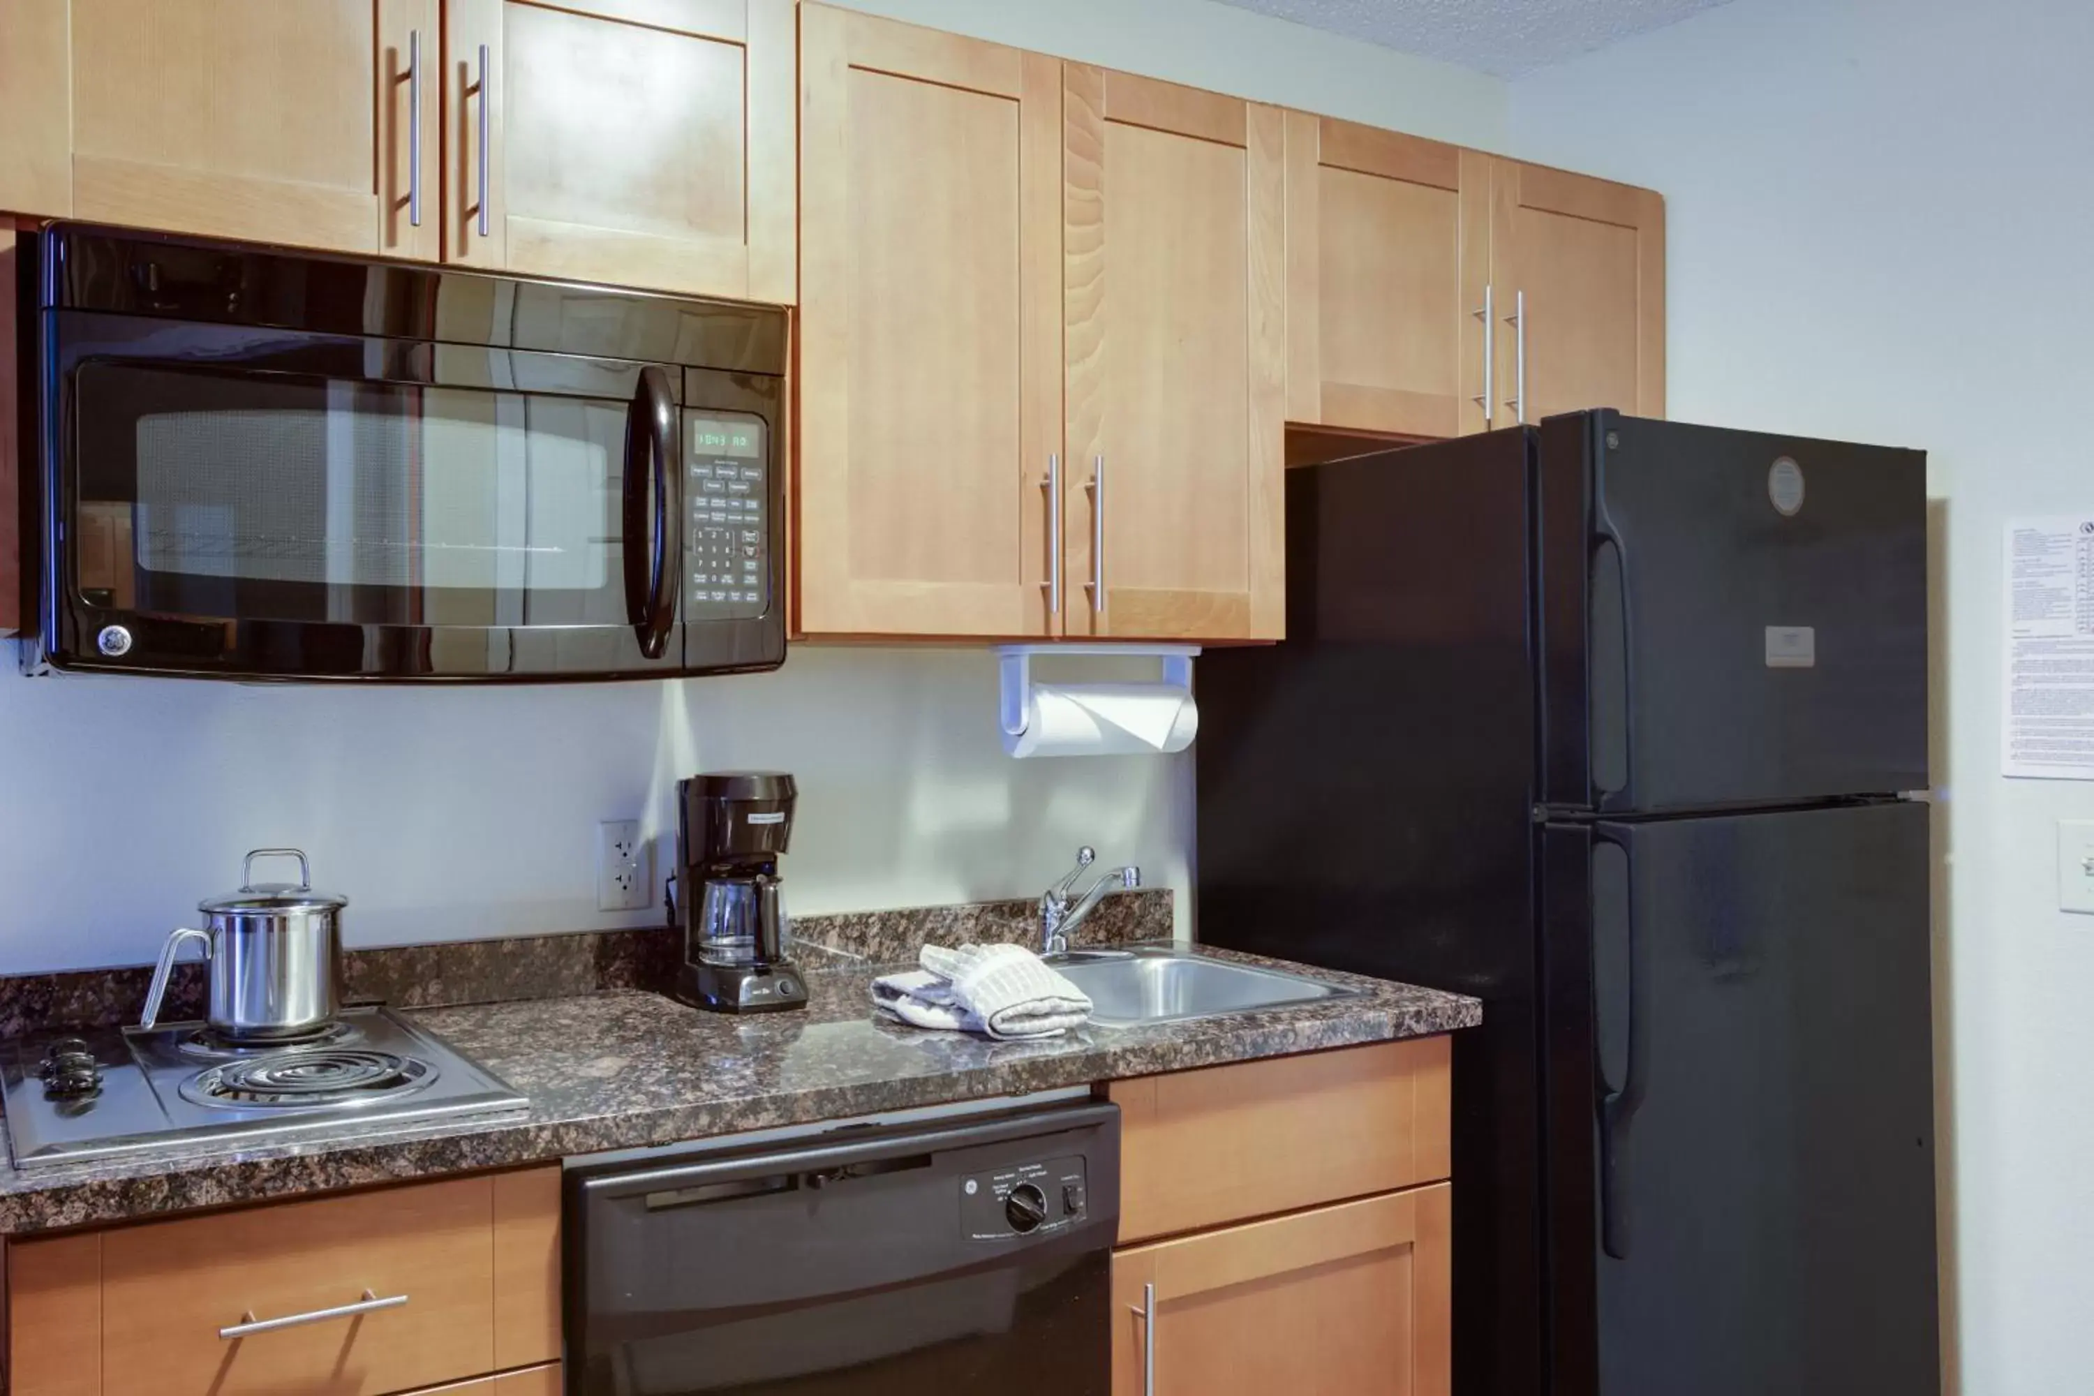
{"type": "Polygon", "coordinates": [[[1070,632],[1286,624],[1282,113],[1064,69],[1070,632]]]}

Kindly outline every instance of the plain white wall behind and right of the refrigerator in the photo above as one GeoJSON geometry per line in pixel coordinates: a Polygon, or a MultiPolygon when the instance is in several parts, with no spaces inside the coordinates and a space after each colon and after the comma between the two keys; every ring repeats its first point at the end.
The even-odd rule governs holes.
{"type": "Polygon", "coordinates": [[[2002,521],[2094,509],[2090,65],[2084,0],[1736,0],[1512,86],[1516,151],[1669,199],[1673,416],[1931,452],[1945,1314],[1979,1396],[2094,1390],[2094,919],[2054,892],[2094,787],[1998,774],[2002,521]]]}

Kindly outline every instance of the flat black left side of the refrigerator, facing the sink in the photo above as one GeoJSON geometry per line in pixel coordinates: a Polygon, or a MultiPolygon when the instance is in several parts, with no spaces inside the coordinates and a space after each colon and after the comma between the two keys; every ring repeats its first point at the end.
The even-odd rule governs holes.
{"type": "Polygon", "coordinates": [[[1196,670],[1198,936],[1460,990],[1453,1373],[1533,1396],[1529,431],[1288,473],[1288,638],[1196,670]]]}

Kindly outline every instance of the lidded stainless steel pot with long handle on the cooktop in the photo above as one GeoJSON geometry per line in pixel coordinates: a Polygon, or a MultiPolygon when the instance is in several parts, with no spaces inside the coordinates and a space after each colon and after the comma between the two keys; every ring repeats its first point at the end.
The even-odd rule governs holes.
{"type": "Polygon", "coordinates": [[[203,944],[211,965],[209,1021],[228,1038],[295,1038],[325,1028],[341,1007],[341,908],[350,898],[312,890],[312,864],[295,848],[258,848],[241,890],[199,902],[205,929],[168,931],[153,969],[140,1028],[159,1017],[182,942],[203,944]],[[297,858],[297,883],[255,883],[255,858],[297,858]]]}

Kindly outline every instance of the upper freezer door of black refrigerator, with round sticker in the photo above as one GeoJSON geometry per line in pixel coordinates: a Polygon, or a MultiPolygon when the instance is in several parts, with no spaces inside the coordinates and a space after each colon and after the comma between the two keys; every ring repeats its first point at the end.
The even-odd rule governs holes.
{"type": "Polygon", "coordinates": [[[1552,806],[1926,787],[1922,452],[1581,412],[1541,496],[1552,806]]]}

